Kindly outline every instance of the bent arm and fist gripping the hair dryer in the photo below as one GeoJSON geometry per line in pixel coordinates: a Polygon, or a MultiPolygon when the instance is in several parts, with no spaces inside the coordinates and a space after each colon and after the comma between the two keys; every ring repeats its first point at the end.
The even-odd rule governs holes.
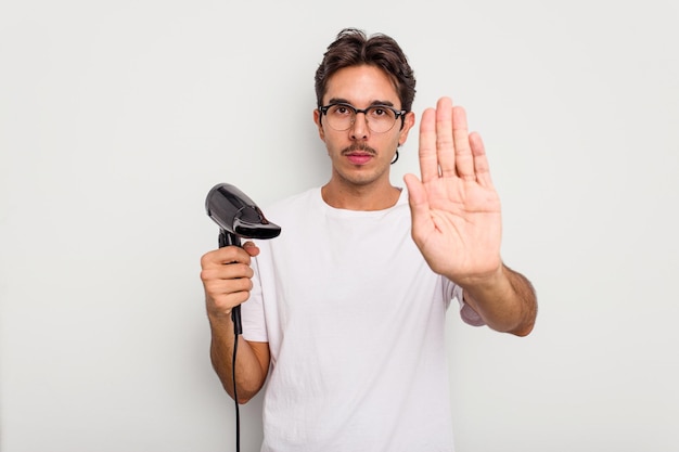
{"type": "MultiPolygon", "coordinates": [[[[228,246],[201,258],[212,343],[210,359],[223,388],[233,398],[232,359],[235,336],[231,310],[247,300],[252,289],[251,256],[259,254],[252,243],[228,246]]],[[[252,399],[264,386],[269,370],[269,345],[251,343],[239,335],[235,364],[239,403],[252,399]]]]}

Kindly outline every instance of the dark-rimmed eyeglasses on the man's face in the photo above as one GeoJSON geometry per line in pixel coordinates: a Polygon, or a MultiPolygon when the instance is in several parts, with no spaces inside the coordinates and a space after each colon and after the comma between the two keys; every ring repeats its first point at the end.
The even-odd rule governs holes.
{"type": "Polygon", "coordinates": [[[368,128],[375,133],[384,133],[392,130],[396,120],[401,118],[401,127],[406,120],[405,109],[396,109],[387,105],[371,105],[364,109],[358,109],[354,105],[336,103],[318,108],[328,118],[328,125],[338,132],[349,130],[356,122],[356,115],[366,115],[368,128]]]}

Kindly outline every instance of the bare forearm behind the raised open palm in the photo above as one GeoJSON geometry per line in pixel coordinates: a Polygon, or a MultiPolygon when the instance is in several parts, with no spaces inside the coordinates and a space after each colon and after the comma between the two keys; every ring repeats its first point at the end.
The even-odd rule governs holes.
{"type": "Polygon", "coordinates": [[[537,315],[537,298],[530,282],[502,264],[496,275],[462,286],[464,300],[492,330],[526,336],[537,315]]]}

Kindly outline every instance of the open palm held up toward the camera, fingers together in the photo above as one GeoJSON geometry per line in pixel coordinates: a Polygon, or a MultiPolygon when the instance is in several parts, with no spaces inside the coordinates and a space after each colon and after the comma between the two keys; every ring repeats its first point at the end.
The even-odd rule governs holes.
{"type": "Polygon", "coordinates": [[[412,236],[432,270],[461,285],[501,271],[500,199],[484,143],[449,98],[422,114],[420,170],[422,180],[405,182],[412,236]]]}

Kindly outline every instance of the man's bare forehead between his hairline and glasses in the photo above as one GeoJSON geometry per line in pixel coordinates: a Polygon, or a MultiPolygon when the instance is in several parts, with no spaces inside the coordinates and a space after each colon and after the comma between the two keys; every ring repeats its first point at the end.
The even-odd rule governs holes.
{"type": "Polygon", "coordinates": [[[375,102],[400,107],[396,87],[386,73],[375,66],[350,66],[337,70],[328,79],[323,98],[323,103],[343,100],[357,107],[375,102]]]}

